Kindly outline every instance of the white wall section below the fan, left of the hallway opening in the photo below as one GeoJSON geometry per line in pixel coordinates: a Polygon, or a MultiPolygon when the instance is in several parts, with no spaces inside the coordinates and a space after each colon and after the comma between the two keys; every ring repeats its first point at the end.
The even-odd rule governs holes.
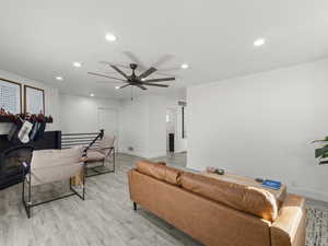
{"type": "MultiPolygon", "coordinates": [[[[165,155],[166,109],[168,107],[179,108],[177,102],[185,98],[181,93],[174,93],[147,95],[133,101],[124,101],[120,116],[120,150],[143,157],[165,155]],[[134,150],[128,151],[129,147],[134,150]]],[[[177,142],[177,149],[184,148],[185,144],[180,144],[180,142],[177,142]]]]}

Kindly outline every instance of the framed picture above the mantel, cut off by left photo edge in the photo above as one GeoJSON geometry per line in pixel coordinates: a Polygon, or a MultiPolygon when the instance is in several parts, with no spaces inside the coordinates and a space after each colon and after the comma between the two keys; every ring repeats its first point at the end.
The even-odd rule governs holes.
{"type": "Polygon", "coordinates": [[[0,108],[16,115],[22,114],[22,84],[0,78],[0,108]]]}

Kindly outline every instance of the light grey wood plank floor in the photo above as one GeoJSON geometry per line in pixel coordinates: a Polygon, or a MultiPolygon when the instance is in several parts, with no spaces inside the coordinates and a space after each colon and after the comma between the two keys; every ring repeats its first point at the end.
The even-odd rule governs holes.
{"type": "MultiPolygon", "coordinates": [[[[133,211],[126,173],[138,160],[118,154],[115,174],[87,179],[85,201],[70,197],[39,206],[33,208],[30,220],[21,202],[21,185],[0,191],[0,246],[200,246],[150,212],[133,211]]],[[[155,161],[185,167],[186,154],[155,161]]],[[[38,194],[44,199],[47,190],[56,196],[57,190],[65,191],[62,187],[68,185],[45,186],[37,191],[43,191],[38,194]]]]}

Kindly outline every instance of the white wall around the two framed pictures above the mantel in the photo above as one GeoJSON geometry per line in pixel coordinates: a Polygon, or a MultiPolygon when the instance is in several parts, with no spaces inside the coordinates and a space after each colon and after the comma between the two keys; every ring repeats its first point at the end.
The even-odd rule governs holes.
{"type": "MultiPolygon", "coordinates": [[[[33,80],[20,77],[17,74],[14,74],[11,72],[2,71],[2,70],[0,70],[0,78],[21,83],[22,84],[22,96],[24,96],[24,84],[45,90],[45,108],[46,108],[45,114],[47,116],[51,115],[54,118],[52,124],[47,124],[46,130],[47,131],[59,130],[60,119],[59,119],[59,114],[58,114],[59,105],[58,105],[58,89],[57,87],[52,87],[50,85],[46,85],[45,83],[33,81],[33,80]]],[[[24,98],[22,98],[22,103],[24,104],[24,98]]],[[[22,109],[24,107],[22,107],[22,109]]],[[[0,134],[7,134],[10,127],[11,127],[11,124],[0,122],[0,134]]]]}

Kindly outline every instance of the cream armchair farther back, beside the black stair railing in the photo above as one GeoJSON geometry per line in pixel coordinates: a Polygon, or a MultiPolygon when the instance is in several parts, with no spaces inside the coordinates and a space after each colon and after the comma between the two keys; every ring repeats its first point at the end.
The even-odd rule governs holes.
{"type": "Polygon", "coordinates": [[[92,169],[92,174],[87,174],[87,177],[115,172],[115,137],[105,134],[95,148],[86,151],[86,168],[92,169]],[[105,168],[105,162],[109,156],[113,160],[113,169],[105,168]]]}

